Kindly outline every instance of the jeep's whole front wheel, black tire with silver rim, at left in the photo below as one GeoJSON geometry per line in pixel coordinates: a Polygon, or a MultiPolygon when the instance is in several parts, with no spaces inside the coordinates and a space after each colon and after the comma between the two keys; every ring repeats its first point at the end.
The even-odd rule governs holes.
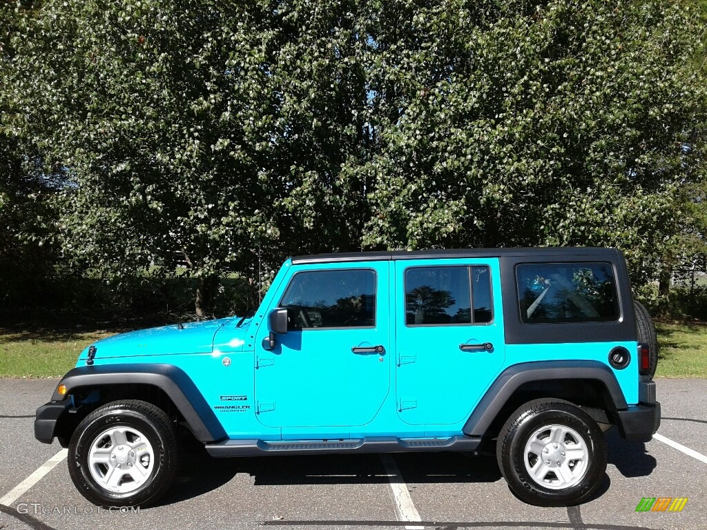
{"type": "Polygon", "coordinates": [[[100,506],[153,504],[173,482],[178,461],[173,423],[160,408],[145,401],[113,401],[97,408],[78,425],[69,443],[71,480],[81,495],[100,506]],[[119,436],[124,443],[118,441],[119,436]],[[107,463],[94,462],[91,467],[89,454],[106,454],[107,463]],[[138,470],[141,476],[136,480],[130,473],[138,470]],[[115,473],[119,483],[112,491],[101,480],[109,481],[115,473]]]}

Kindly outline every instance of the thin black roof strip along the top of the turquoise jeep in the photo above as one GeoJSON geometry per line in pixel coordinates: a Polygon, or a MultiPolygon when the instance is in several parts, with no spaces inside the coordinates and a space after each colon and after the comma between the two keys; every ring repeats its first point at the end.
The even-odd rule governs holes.
{"type": "Polygon", "coordinates": [[[498,249],[430,249],[392,250],[378,252],[334,252],[296,256],[292,264],[335,263],[340,261],[397,261],[399,259],[489,258],[489,257],[549,257],[556,259],[618,257],[617,249],[606,247],[518,247],[498,249]]]}

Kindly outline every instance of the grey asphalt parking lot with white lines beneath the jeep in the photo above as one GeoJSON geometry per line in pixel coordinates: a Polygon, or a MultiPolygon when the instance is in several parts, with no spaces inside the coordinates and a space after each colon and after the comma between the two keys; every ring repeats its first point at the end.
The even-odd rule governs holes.
{"type": "Polygon", "coordinates": [[[607,475],[597,497],[580,507],[525,505],[510,493],[491,456],[217,460],[197,451],[185,454],[180,478],[160,505],[127,513],[98,510],[84,500],[65,459],[8,501],[8,494],[61,449],[33,436],[35,408],[49,399],[57,382],[0,379],[0,503],[7,504],[0,505],[0,530],[707,529],[707,379],[657,382],[659,434],[694,454],[665,441],[625,442],[612,430],[607,475]],[[636,512],[642,497],[688,501],[682,512],[636,512]]]}

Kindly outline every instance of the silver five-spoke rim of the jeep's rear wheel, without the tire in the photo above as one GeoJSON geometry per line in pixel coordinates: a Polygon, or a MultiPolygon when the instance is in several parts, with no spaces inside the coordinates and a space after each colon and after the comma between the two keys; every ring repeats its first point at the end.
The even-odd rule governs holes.
{"type": "Polygon", "coordinates": [[[525,469],[550,490],[564,490],[582,480],[589,466],[587,442],[566,425],[544,425],[525,444],[525,469]]]}

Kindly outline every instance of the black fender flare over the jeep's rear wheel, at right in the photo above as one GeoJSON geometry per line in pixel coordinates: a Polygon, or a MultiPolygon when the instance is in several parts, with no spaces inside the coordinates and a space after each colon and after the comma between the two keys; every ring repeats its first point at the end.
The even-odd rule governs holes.
{"type": "Polygon", "coordinates": [[[595,380],[606,387],[617,411],[626,410],[626,397],[614,372],[597,360],[549,360],[520,363],[501,372],[486,391],[474,412],[464,423],[462,432],[469,436],[483,436],[506,405],[510,396],[522,385],[533,381],[556,379],[595,380]]]}

